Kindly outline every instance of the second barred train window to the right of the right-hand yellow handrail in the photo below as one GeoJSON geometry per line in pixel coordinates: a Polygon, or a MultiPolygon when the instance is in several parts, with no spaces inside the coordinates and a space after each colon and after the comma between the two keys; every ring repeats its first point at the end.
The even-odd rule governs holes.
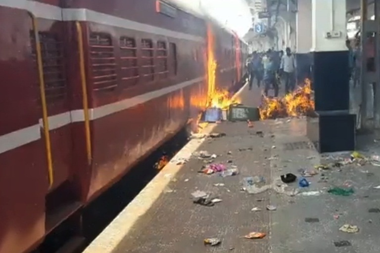
{"type": "Polygon", "coordinates": [[[120,38],[121,80],[123,88],[139,82],[139,65],[137,63],[136,40],[129,37],[120,38]]]}

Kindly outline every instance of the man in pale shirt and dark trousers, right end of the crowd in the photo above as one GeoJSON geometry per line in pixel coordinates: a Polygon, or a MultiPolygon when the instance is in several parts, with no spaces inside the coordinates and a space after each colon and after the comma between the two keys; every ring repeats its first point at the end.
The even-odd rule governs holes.
{"type": "Polygon", "coordinates": [[[285,93],[289,93],[295,88],[295,69],[296,63],[294,55],[291,53],[290,48],[286,47],[286,53],[281,59],[281,72],[284,74],[285,79],[285,93]]]}

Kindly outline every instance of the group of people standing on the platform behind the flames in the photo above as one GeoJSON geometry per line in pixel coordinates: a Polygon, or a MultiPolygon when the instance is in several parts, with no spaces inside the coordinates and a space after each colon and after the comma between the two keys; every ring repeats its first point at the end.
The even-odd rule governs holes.
{"type": "Polygon", "coordinates": [[[279,95],[281,79],[285,82],[285,92],[295,88],[296,61],[289,47],[284,51],[269,49],[265,53],[254,51],[247,59],[249,73],[249,89],[252,89],[253,80],[257,86],[264,84],[264,94],[268,96],[269,89],[273,88],[275,97],[279,95]]]}

